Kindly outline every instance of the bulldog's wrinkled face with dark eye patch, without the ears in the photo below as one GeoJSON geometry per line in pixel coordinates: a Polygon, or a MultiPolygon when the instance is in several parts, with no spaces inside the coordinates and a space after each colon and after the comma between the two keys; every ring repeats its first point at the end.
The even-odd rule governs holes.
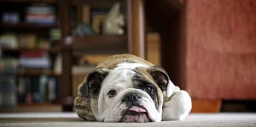
{"type": "MultiPolygon", "coordinates": [[[[117,68],[102,82],[98,98],[100,119],[106,122],[161,121],[157,86],[136,70],[117,68]]],[[[160,100],[162,101],[162,100],[160,100]]]]}

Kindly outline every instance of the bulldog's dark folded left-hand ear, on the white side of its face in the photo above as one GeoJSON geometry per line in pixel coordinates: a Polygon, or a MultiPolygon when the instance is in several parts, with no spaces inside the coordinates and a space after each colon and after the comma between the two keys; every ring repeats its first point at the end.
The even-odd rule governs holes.
{"type": "Polygon", "coordinates": [[[89,93],[99,94],[101,83],[107,77],[109,70],[106,68],[97,68],[89,73],[86,77],[84,84],[79,89],[82,96],[88,97],[89,93]]]}

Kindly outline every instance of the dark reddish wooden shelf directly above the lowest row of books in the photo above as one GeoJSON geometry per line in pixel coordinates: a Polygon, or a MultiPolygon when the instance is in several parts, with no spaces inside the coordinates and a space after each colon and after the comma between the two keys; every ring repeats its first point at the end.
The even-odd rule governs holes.
{"type": "Polygon", "coordinates": [[[27,75],[27,76],[39,76],[39,75],[47,75],[51,77],[59,77],[60,74],[54,73],[52,70],[25,70],[20,69],[18,70],[18,75],[27,75]]]}

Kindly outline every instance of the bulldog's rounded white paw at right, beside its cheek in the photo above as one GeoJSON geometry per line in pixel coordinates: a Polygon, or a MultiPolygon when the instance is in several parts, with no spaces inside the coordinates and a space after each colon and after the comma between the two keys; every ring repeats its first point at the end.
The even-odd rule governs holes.
{"type": "Polygon", "coordinates": [[[162,120],[183,120],[191,111],[191,98],[184,90],[174,92],[163,105],[162,120]]]}

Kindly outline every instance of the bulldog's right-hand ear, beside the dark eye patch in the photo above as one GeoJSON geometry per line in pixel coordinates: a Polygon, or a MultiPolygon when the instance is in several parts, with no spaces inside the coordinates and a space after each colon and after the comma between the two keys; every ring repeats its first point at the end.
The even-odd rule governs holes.
{"type": "Polygon", "coordinates": [[[170,97],[174,91],[174,84],[170,80],[166,71],[161,66],[150,66],[148,69],[149,73],[161,88],[162,91],[166,91],[166,96],[170,97]]]}

